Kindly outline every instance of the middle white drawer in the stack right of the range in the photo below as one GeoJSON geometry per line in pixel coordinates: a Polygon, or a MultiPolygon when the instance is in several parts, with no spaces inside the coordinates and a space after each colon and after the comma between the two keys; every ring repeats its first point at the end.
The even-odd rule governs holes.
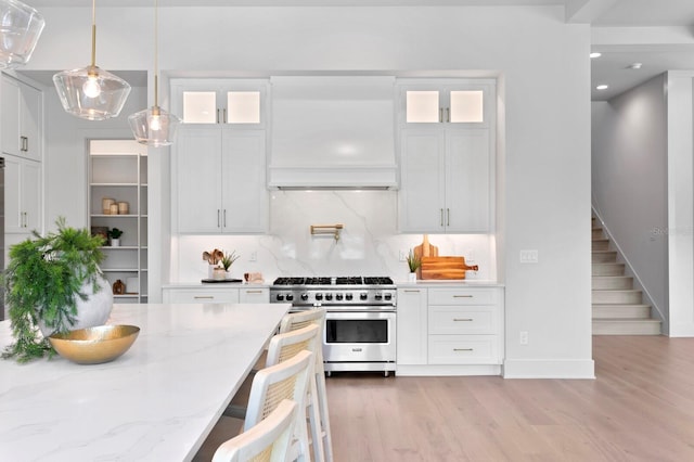
{"type": "Polygon", "coordinates": [[[494,334],[494,306],[429,306],[429,334],[494,334]]]}

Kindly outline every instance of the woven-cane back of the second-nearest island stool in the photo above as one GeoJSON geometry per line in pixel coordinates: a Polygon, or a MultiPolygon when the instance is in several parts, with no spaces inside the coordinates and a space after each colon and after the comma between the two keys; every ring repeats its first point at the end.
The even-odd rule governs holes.
{"type": "Polygon", "coordinates": [[[266,419],[283,399],[291,399],[299,409],[305,409],[313,362],[313,354],[303,350],[293,358],[259,370],[250,385],[244,431],[266,419]]]}

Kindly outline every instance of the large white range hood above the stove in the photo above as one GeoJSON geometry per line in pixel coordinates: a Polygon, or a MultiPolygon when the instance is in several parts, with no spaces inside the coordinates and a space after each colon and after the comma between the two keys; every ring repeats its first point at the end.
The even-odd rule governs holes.
{"type": "Polygon", "coordinates": [[[272,77],[268,187],[391,189],[395,77],[272,77]]]}

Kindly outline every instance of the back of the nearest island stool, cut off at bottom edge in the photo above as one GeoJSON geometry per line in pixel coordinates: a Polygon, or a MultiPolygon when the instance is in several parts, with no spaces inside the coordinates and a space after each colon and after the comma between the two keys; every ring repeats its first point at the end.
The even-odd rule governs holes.
{"type": "Polygon", "coordinates": [[[297,409],[296,402],[282,400],[256,426],[222,442],[213,462],[284,462],[297,409]]]}

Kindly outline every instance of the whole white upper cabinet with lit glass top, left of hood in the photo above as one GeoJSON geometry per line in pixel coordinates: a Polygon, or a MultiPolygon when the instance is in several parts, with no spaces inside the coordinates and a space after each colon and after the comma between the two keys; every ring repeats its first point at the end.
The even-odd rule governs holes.
{"type": "Polygon", "coordinates": [[[171,163],[171,228],[182,234],[264,233],[267,80],[175,79],[183,116],[171,163]]]}

